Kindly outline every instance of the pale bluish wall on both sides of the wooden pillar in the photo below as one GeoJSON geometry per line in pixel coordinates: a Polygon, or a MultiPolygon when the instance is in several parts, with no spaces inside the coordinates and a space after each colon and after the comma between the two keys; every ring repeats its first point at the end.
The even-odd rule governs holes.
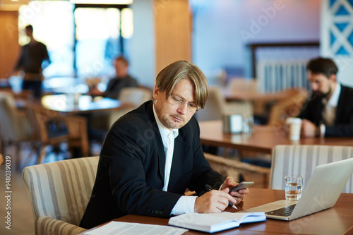
{"type": "MultiPolygon", "coordinates": [[[[133,1],[130,72],[139,83],[155,80],[153,0],[133,1]]],[[[321,0],[189,0],[193,11],[192,60],[209,80],[221,68],[250,73],[251,42],[320,40],[321,0]],[[250,37],[246,37],[250,36],[250,37]]],[[[211,81],[212,83],[212,81],[211,81]]]]}

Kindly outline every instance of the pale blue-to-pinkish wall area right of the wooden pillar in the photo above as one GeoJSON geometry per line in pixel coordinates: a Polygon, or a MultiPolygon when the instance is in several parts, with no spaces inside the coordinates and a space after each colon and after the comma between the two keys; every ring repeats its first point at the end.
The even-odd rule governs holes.
{"type": "Polygon", "coordinates": [[[249,70],[250,42],[320,39],[321,0],[190,0],[190,4],[193,62],[206,76],[227,66],[249,70]]]}

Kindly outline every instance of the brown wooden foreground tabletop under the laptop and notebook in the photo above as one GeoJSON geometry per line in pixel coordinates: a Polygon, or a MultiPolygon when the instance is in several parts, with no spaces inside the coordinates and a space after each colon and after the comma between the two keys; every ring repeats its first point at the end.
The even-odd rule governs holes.
{"type": "MultiPolygon", "coordinates": [[[[267,188],[251,188],[244,202],[237,205],[239,210],[285,199],[285,191],[267,188]]],[[[237,212],[228,207],[230,212],[237,212]]],[[[243,224],[239,228],[229,229],[217,234],[344,234],[353,225],[353,193],[342,193],[334,207],[317,212],[291,222],[268,219],[265,222],[243,224]]],[[[143,224],[167,225],[168,219],[126,215],[114,221],[135,222],[143,224]]],[[[187,234],[205,234],[198,231],[187,231],[187,234]]]]}

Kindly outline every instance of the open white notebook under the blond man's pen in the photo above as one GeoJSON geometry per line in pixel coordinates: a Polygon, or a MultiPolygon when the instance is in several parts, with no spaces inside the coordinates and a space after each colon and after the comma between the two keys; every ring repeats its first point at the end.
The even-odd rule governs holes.
{"type": "Polygon", "coordinates": [[[264,212],[186,213],[169,219],[168,225],[214,233],[239,227],[240,224],[265,221],[264,212]]]}

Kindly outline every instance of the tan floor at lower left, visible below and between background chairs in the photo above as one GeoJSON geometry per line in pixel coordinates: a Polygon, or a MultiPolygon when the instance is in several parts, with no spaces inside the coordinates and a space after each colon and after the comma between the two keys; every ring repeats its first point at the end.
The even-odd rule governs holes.
{"type": "MultiPolygon", "coordinates": [[[[67,151],[61,146],[64,151],[59,154],[54,152],[49,153],[45,158],[44,162],[53,162],[56,160],[64,159],[69,157],[67,151]]],[[[30,206],[30,200],[28,198],[27,189],[22,179],[22,171],[24,167],[35,164],[36,155],[35,152],[30,151],[30,146],[21,146],[20,151],[20,162],[19,169],[15,169],[16,166],[16,147],[6,147],[4,160],[6,156],[11,159],[11,184],[10,190],[6,189],[6,162],[0,165],[0,185],[1,185],[1,196],[0,196],[0,234],[4,235],[34,235],[35,227],[33,222],[32,208],[30,206]],[[6,193],[10,191],[11,193],[6,193]],[[6,195],[11,195],[11,201],[5,198],[6,195]],[[10,205],[11,204],[11,205],[10,205]],[[10,205],[11,208],[7,205],[10,205]],[[6,229],[8,226],[6,222],[6,215],[11,212],[11,230],[6,229]]],[[[97,143],[91,144],[92,155],[99,155],[100,145],[97,143]]],[[[7,175],[8,176],[8,175],[7,175]]]]}

